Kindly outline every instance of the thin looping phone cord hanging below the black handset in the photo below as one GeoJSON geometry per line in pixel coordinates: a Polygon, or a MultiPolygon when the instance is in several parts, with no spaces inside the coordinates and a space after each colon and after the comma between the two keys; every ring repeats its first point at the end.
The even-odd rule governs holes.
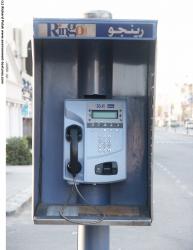
{"type": "Polygon", "coordinates": [[[104,220],[105,218],[105,214],[99,209],[97,208],[96,206],[94,205],[91,205],[89,204],[89,202],[87,201],[87,199],[83,196],[83,194],[80,192],[78,186],[77,186],[77,183],[75,181],[75,178],[73,177],[73,186],[72,186],[72,189],[71,189],[71,192],[68,196],[68,199],[66,201],[67,205],[69,204],[71,198],[72,198],[72,194],[74,193],[74,191],[77,193],[77,195],[86,203],[86,205],[89,205],[91,206],[97,213],[98,215],[100,216],[99,219],[95,220],[95,221],[92,221],[92,222],[87,222],[87,223],[83,223],[81,222],[80,220],[74,220],[74,219],[70,219],[68,218],[66,215],[64,215],[64,206],[60,209],[59,213],[60,213],[60,216],[65,219],[66,221],[70,222],[70,223],[73,223],[73,224],[78,224],[78,225],[94,225],[94,224],[97,224],[97,223],[100,223],[104,220]]]}

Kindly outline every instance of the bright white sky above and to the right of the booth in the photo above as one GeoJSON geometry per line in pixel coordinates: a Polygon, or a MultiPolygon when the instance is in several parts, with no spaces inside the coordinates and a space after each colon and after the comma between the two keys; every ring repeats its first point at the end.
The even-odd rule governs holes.
{"type": "Polygon", "coordinates": [[[158,20],[157,90],[169,95],[176,84],[193,82],[193,13],[191,0],[7,0],[6,19],[14,26],[33,17],[81,18],[90,10],[108,10],[116,19],[158,20]]]}

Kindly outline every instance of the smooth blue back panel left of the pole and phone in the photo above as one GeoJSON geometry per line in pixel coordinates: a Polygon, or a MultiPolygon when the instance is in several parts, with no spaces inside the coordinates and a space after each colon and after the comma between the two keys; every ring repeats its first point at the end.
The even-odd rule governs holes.
{"type": "Polygon", "coordinates": [[[42,202],[62,204],[70,185],[63,179],[64,99],[77,98],[77,41],[44,41],[42,202]]]}

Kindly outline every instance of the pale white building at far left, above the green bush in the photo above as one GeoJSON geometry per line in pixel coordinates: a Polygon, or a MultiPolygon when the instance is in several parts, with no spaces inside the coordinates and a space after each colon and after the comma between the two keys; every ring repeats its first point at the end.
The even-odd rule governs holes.
{"type": "Polygon", "coordinates": [[[6,137],[31,135],[32,68],[31,29],[13,28],[6,32],[6,137]],[[30,65],[31,64],[31,65],[30,65]],[[26,67],[27,65],[27,67],[26,67]],[[30,75],[31,73],[31,75],[30,75]]]}

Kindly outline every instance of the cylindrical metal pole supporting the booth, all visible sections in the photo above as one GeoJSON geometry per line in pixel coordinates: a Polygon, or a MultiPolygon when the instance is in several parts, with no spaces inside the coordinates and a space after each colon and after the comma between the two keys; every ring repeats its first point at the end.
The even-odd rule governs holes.
{"type": "MultiPolygon", "coordinates": [[[[108,11],[92,11],[86,18],[111,19],[108,11]]],[[[110,44],[83,41],[79,48],[79,98],[112,95],[112,59],[110,44]],[[85,51],[89,53],[85,53],[85,51]],[[84,51],[84,53],[81,53],[84,51]]],[[[81,193],[91,205],[110,203],[110,185],[80,185],[81,193]]],[[[79,200],[80,203],[83,201],[79,200]]],[[[109,226],[78,226],[78,250],[109,250],[109,226]]]]}

